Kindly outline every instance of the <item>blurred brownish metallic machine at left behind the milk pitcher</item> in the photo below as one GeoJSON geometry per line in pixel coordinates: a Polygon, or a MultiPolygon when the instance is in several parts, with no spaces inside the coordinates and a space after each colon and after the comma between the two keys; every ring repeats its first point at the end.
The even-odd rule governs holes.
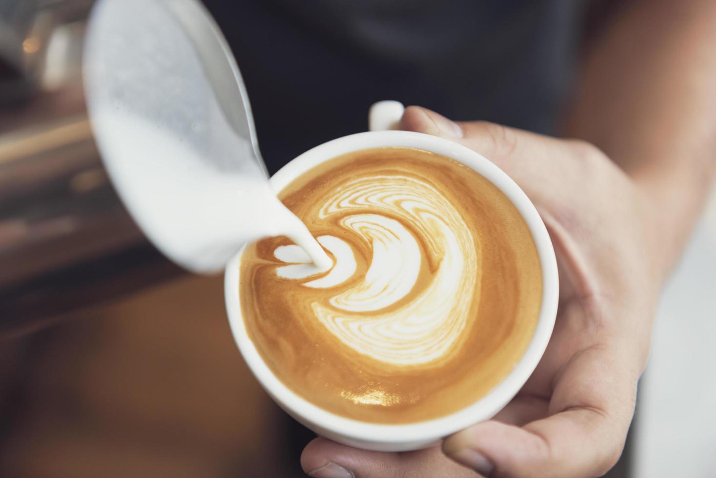
{"type": "Polygon", "coordinates": [[[0,336],[180,275],[108,180],[82,90],[93,0],[0,0],[0,336]]]}

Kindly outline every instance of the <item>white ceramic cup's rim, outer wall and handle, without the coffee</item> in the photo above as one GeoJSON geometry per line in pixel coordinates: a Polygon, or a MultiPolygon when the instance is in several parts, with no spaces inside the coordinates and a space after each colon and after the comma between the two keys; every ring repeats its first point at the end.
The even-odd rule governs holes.
{"type": "MultiPolygon", "coordinates": [[[[396,115],[400,119],[401,109],[402,107],[399,108],[396,104],[385,104],[382,108],[374,109],[371,125],[389,127],[395,122],[396,115]]],[[[228,319],[238,348],[256,379],[281,408],[317,434],[336,442],[382,452],[400,452],[428,447],[466,426],[490,419],[517,394],[540,361],[551,336],[557,312],[558,276],[554,250],[547,230],[537,210],[520,187],[485,157],[440,137],[405,131],[372,131],[341,137],[296,157],[271,177],[271,185],[277,193],[281,192],[296,177],[326,160],[349,152],[383,146],[418,148],[463,163],[504,192],[526,221],[542,267],[541,310],[527,351],[505,380],[475,403],[437,419],[411,424],[374,424],[348,419],[321,409],[286,387],[269,369],[248,338],[241,317],[238,293],[239,263],[243,248],[226,266],[225,293],[228,319]]]]}

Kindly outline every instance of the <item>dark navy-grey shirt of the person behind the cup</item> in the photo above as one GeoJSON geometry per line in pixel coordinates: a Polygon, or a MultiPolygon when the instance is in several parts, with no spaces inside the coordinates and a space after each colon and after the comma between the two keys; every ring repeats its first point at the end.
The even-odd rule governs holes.
{"type": "Polygon", "coordinates": [[[271,172],[367,128],[380,99],[549,133],[573,77],[577,0],[206,0],[271,172]]]}

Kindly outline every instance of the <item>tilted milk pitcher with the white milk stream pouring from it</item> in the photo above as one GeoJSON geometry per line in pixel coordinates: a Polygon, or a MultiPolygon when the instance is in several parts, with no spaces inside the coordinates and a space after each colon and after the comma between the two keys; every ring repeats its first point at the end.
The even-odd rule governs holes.
{"type": "Polygon", "coordinates": [[[84,83],[113,185],[175,263],[218,272],[244,243],[286,235],[306,267],[332,266],[271,190],[236,62],[198,2],[99,1],[84,83]]]}

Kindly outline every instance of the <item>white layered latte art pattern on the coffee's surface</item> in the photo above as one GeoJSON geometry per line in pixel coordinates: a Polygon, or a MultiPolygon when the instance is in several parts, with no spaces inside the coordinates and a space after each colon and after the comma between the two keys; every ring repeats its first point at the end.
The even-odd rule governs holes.
{"type": "MultiPolygon", "coordinates": [[[[316,319],[346,346],[387,364],[449,358],[479,293],[475,239],[458,210],[423,180],[367,175],[347,182],[319,210],[319,220],[334,217],[354,240],[368,245],[371,257],[367,270],[357,271],[349,243],[331,235],[319,238],[335,265],[324,277],[301,284],[332,289],[311,304],[316,319]],[[422,264],[436,270],[421,289],[422,264]],[[355,274],[359,277],[347,282],[355,274]]],[[[287,247],[297,248],[279,250],[287,247]]],[[[290,260],[283,253],[277,258],[290,260]]],[[[315,272],[304,268],[303,274],[291,275],[286,272],[290,267],[295,266],[277,273],[301,278],[315,272]]]]}

